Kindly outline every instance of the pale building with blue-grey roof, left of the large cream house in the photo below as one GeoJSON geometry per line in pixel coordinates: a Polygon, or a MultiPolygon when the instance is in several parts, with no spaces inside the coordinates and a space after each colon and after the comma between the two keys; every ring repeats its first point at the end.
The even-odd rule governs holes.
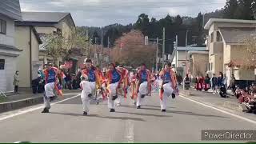
{"type": "Polygon", "coordinates": [[[188,54],[190,50],[206,51],[206,47],[177,47],[177,50],[175,50],[176,54],[174,55],[172,65],[174,66],[174,70],[177,72],[177,74],[181,75],[182,78],[184,78],[186,73],[190,71],[190,55],[188,54]]]}

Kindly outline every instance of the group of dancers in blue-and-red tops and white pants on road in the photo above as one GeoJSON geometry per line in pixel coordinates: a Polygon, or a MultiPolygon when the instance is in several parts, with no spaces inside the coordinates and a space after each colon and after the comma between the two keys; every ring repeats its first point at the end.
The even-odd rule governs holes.
{"type": "MultiPolygon", "coordinates": [[[[85,67],[81,70],[82,82],[80,83],[83,115],[89,114],[90,100],[94,98],[94,94],[97,91],[102,94],[103,100],[107,99],[110,112],[115,112],[115,106],[120,106],[121,99],[127,98],[129,92],[130,98],[134,100],[137,109],[141,109],[146,95],[151,94],[151,84],[155,78],[152,78],[150,70],[146,69],[145,63],[142,63],[135,73],[130,73],[123,66],[115,66],[114,63],[110,63],[108,70],[102,73],[101,70],[93,66],[90,58],[85,59],[84,65],[85,67]]],[[[62,96],[60,79],[64,78],[65,75],[62,70],[58,70],[51,63],[46,64],[44,73],[46,74],[45,107],[42,113],[49,113],[50,102],[55,98],[56,94],[54,94],[54,90],[57,91],[59,96],[62,96]]],[[[168,98],[170,96],[174,98],[174,90],[178,90],[176,74],[171,69],[170,63],[166,63],[165,67],[160,71],[159,78],[161,78],[159,91],[161,111],[166,112],[168,98]]]]}

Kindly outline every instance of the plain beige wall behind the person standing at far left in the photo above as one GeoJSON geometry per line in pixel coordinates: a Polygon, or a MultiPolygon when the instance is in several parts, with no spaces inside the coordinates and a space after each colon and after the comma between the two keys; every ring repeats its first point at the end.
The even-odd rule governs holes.
{"type": "Polygon", "coordinates": [[[16,26],[15,30],[15,45],[23,50],[17,61],[20,87],[30,87],[30,27],[16,26]]]}

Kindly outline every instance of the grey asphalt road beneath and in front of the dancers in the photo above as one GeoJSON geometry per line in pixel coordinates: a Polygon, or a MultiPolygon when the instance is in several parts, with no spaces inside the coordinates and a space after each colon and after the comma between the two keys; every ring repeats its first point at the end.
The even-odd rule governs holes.
{"type": "Polygon", "coordinates": [[[82,116],[77,96],[55,103],[50,114],[41,114],[41,105],[26,108],[23,114],[12,112],[10,118],[2,114],[0,142],[202,142],[201,130],[256,129],[254,123],[181,97],[170,98],[166,113],[159,110],[156,94],[146,97],[144,104],[137,110],[123,99],[122,106],[110,113],[106,102],[92,102],[90,115],[82,116]]]}

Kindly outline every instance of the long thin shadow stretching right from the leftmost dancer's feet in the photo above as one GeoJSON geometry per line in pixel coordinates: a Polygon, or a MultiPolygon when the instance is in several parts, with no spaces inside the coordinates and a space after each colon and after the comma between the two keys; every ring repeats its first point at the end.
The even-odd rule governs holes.
{"type": "MultiPolygon", "coordinates": [[[[116,112],[118,113],[118,112],[116,112]]],[[[87,116],[83,116],[82,114],[74,114],[74,113],[58,113],[58,112],[50,112],[50,114],[60,114],[67,116],[75,116],[75,117],[89,117],[89,118],[108,118],[108,119],[119,119],[119,120],[134,120],[134,121],[142,121],[145,122],[142,118],[130,118],[130,117],[110,117],[110,116],[100,116],[98,114],[90,114],[87,116]]]]}

